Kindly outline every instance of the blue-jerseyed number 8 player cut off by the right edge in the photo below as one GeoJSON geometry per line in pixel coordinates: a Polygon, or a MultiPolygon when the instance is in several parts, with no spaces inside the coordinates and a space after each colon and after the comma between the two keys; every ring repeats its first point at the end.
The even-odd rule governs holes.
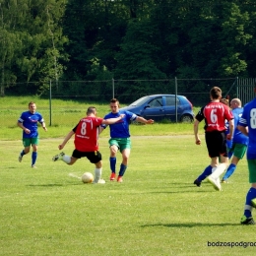
{"type": "MultiPolygon", "coordinates": [[[[254,91],[256,93],[256,87],[254,91]]],[[[240,223],[255,224],[251,212],[253,208],[256,208],[256,98],[244,105],[242,116],[238,122],[238,129],[249,137],[246,155],[249,182],[251,183],[251,188],[246,195],[244,214],[240,223]]]]}

